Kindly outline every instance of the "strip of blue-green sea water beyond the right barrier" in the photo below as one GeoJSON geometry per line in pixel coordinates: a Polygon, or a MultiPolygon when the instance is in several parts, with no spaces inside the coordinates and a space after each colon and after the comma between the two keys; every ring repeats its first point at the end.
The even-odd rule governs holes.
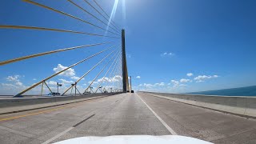
{"type": "Polygon", "coordinates": [[[205,94],[205,95],[222,95],[222,96],[255,96],[256,86],[238,87],[233,89],[199,91],[186,94],[205,94]]]}

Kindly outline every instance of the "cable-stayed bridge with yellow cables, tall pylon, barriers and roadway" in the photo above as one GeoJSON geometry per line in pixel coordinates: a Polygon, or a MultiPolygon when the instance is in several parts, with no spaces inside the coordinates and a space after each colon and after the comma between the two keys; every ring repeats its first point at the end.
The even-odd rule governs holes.
{"type": "Polygon", "coordinates": [[[41,2],[23,2],[85,23],[104,34],[40,26],[1,25],[0,29],[82,34],[118,42],[110,40],[64,47],[0,62],[0,66],[7,66],[64,51],[105,46],[103,50],[26,86],[17,94],[2,95],[1,143],[53,143],[70,138],[110,135],[183,135],[213,143],[256,142],[256,98],[148,91],[132,93],[126,64],[125,30],[120,29],[111,19],[111,15],[106,13],[100,2],[84,0],[87,8],[94,10],[94,14],[68,0],[70,5],[83,14],[89,14],[101,25],[41,2]],[[65,90],[59,90],[63,89],[61,82],[54,83],[55,87],[50,86],[52,78],[93,58],[98,58],[97,62],[89,70],[82,72],[65,90]],[[98,71],[95,72],[97,68],[98,71]],[[94,78],[88,86],[81,88],[79,84],[88,74],[94,74],[94,78]],[[38,90],[33,91],[35,88],[38,90]]]}

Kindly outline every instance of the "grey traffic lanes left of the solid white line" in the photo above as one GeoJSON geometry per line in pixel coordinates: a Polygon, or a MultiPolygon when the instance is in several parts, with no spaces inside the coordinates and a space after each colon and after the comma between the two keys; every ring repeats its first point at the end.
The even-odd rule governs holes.
{"type": "Polygon", "coordinates": [[[89,135],[170,134],[134,94],[118,94],[75,105],[1,115],[1,143],[58,142],[89,135]],[[36,114],[26,116],[33,113],[36,114]],[[21,115],[26,117],[14,118],[21,115]],[[4,118],[14,119],[1,121],[4,118]]]}

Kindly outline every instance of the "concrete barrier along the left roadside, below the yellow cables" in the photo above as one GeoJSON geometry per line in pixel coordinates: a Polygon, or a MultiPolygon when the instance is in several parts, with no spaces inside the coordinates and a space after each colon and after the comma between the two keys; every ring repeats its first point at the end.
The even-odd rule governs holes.
{"type": "Polygon", "coordinates": [[[38,97],[38,98],[0,98],[0,114],[10,114],[26,110],[36,110],[50,106],[60,106],[64,104],[82,102],[94,98],[103,98],[106,96],[121,93],[90,94],[79,96],[56,96],[56,97],[38,97]]]}

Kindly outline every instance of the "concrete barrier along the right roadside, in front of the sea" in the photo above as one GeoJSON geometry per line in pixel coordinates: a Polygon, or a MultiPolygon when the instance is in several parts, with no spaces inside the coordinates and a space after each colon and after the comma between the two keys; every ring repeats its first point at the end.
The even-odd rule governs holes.
{"type": "Polygon", "coordinates": [[[166,94],[142,92],[158,98],[219,110],[230,114],[256,118],[256,97],[212,96],[198,94],[166,94]]]}

